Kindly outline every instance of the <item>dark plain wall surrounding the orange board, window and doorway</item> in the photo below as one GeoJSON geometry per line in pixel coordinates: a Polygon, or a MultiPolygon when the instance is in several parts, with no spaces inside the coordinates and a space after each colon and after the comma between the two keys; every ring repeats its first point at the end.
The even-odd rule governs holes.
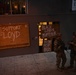
{"type": "Polygon", "coordinates": [[[28,0],[28,14],[0,15],[0,24],[28,22],[30,27],[30,46],[0,50],[0,56],[38,53],[38,22],[59,21],[60,31],[65,43],[76,31],[76,12],[71,11],[71,0],[28,0]]]}

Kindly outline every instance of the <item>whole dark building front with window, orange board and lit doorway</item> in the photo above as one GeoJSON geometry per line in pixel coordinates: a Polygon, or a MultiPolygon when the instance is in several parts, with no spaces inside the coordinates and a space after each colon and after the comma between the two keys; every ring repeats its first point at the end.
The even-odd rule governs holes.
{"type": "Polygon", "coordinates": [[[52,51],[48,37],[56,32],[67,42],[76,30],[76,14],[67,7],[70,2],[0,0],[0,57],[52,51]]]}

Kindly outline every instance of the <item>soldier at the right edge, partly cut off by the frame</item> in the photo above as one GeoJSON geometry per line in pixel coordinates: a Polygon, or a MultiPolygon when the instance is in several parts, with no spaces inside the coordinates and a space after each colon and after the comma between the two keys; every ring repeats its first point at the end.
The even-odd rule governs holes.
{"type": "Polygon", "coordinates": [[[69,42],[69,49],[71,50],[70,52],[70,66],[68,68],[73,68],[74,67],[74,61],[76,60],[76,34],[73,32],[72,36],[72,41],[69,42]]]}

